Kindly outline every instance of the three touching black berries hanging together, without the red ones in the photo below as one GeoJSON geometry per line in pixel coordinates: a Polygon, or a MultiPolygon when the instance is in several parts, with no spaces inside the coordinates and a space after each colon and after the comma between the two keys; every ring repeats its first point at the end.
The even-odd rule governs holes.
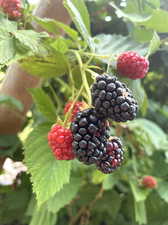
{"type": "Polygon", "coordinates": [[[119,138],[109,136],[107,119],[133,120],[137,102],[125,84],[106,74],[96,78],[91,94],[94,108],[78,112],[71,124],[72,149],[79,161],[111,173],[123,161],[123,148],[119,138]]]}

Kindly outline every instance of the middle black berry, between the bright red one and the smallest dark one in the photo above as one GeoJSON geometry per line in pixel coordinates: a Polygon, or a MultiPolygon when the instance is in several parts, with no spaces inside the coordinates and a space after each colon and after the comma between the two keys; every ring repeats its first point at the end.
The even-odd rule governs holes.
{"type": "Polygon", "coordinates": [[[85,164],[96,163],[106,153],[107,123],[93,108],[78,112],[71,124],[73,151],[85,164]]]}

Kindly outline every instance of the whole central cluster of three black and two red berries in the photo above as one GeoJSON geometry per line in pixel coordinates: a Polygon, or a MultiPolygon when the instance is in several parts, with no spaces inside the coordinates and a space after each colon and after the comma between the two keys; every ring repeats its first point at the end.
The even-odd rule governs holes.
{"type": "Polygon", "coordinates": [[[64,113],[70,112],[71,128],[54,125],[48,142],[58,160],[75,157],[86,165],[95,164],[102,173],[112,173],[123,161],[119,138],[110,137],[107,119],[117,122],[133,120],[138,105],[131,91],[115,76],[99,75],[91,89],[94,108],[83,102],[69,102],[64,113]]]}

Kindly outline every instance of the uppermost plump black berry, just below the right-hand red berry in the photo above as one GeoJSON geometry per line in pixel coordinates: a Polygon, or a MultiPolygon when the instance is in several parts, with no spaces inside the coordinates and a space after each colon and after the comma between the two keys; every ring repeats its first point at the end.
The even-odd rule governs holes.
{"type": "Polygon", "coordinates": [[[115,76],[97,76],[91,92],[93,106],[99,117],[110,118],[116,122],[126,122],[136,117],[136,100],[127,86],[115,76]]]}

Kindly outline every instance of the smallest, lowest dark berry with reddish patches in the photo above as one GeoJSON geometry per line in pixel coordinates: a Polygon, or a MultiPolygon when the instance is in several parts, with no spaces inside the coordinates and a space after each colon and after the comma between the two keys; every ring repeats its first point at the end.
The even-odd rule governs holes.
{"type": "Polygon", "coordinates": [[[111,137],[106,143],[104,158],[97,161],[97,168],[102,173],[112,173],[121,166],[123,161],[123,147],[119,138],[111,137]]]}

